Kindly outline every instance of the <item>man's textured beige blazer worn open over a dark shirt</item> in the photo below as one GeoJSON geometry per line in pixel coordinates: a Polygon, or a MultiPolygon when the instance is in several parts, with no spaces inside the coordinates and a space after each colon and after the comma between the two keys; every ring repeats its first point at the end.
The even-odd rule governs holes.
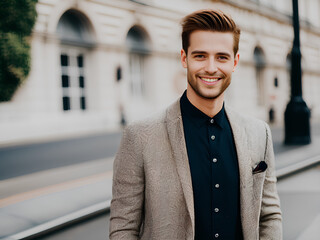
{"type": "MultiPolygon", "coordinates": [[[[274,153],[266,123],[227,106],[240,172],[245,240],[282,239],[274,153]],[[260,161],[268,168],[252,170],[260,161]]],[[[128,126],[113,168],[111,240],[193,240],[194,203],[179,101],[158,117],[128,126]]]]}

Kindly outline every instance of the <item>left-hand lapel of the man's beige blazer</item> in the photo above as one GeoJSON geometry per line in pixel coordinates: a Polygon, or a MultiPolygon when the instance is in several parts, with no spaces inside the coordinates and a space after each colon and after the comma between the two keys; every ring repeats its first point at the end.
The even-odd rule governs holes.
{"type": "MultiPolygon", "coordinates": [[[[180,101],[176,101],[167,110],[166,124],[169,141],[172,147],[173,156],[177,166],[183,194],[186,200],[188,212],[191,218],[192,232],[194,231],[194,203],[192,180],[186,149],[183,123],[180,109],[180,101]]],[[[194,234],[194,233],[193,233],[194,234]]]]}

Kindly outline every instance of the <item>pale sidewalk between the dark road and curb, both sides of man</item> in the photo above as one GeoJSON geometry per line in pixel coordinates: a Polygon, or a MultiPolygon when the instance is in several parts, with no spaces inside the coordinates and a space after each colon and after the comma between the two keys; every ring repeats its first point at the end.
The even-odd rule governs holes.
{"type": "MultiPolygon", "coordinates": [[[[277,150],[277,175],[279,171],[299,164],[302,160],[320,160],[319,135],[313,136],[312,143],[306,146],[283,146],[279,136],[275,137],[274,142],[277,150]]],[[[19,194],[1,196],[0,239],[23,239],[108,209],[111,200],[112,162],[113,159],[102,159],[0,181],[0,192],[9,191],[21,182],[28,185],[31,182],[47,181],[44,184],[46,186],[41,188],[26,186],[19,194]],[[78,173],[75,173],[76,170],[78,173]],[[57,182],[57,179],[66,176],[69,176],[67,180],[57,182]]]]}

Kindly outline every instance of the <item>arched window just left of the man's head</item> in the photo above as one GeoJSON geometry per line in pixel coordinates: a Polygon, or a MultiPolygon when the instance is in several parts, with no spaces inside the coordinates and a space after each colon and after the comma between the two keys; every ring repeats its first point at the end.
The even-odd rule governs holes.
{"type": "Polygon", "coordinates": [[[126,44],[130,51],[131,93],[134,97],[142,97],[145,94],[144,62],[150,52],[146,32],[139,26],[133,26],[127,34],[126,44]]]}

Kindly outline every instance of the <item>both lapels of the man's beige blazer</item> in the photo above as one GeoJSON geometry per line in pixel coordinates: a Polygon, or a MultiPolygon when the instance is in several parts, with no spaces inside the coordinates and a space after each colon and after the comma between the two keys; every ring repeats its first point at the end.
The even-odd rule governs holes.
{"type": "MultiPolygon", "coordinates": [[[[237,114],[230,110],[228,107],[225,107],[225,110],[231,125],[238,156],[240,175],[241,223],[243,228],[243,235],[246,239],[247,236],[250,235],[251,231],[250,226],[246,223],[250,223],[252,221],[252,206],[254,201],[250,149],[247,145],[247,136],[244,128],[245,125],[241,122],[241,118],[238,117],[237,114]]],[[[177,172],[180,178],[183,194],[191,218],[192,231],[194,231],[194,202],[192,180],[183,132],[183,123],[179,100],[167,109],[166,125],[173,156],[177,166],[177,172]]]]}

